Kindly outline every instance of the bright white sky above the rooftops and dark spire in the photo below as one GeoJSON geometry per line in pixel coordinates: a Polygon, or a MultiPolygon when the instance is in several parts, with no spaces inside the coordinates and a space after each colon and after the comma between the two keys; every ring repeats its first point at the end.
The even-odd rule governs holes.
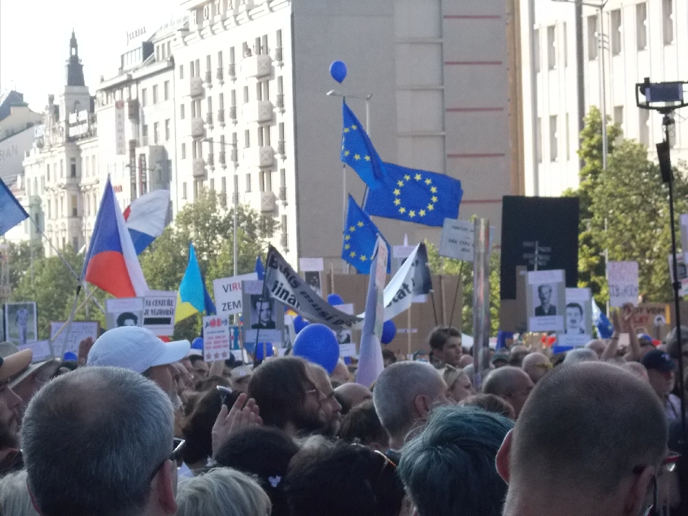
{"type": "Polygon", "coordinates": [[[84,78],[92,95],[99,78],[114,76],[127,31],[158,26],[180,12],[181,0],[0,0],[0,94],[16,89],[43,111],[65,85],[69,38],[76,33],[84,78]]]}

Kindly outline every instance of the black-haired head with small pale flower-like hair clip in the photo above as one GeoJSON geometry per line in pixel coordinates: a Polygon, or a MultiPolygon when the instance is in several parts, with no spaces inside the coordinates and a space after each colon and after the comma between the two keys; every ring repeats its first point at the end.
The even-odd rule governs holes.
{"type": "Polygon", "coordinates": [[[298,451],[294,440],[278,428],[248,427],[229,436],[215,462],[258,477],[272,501],[272,516],[286,516],[283,480],[298,451]]]}

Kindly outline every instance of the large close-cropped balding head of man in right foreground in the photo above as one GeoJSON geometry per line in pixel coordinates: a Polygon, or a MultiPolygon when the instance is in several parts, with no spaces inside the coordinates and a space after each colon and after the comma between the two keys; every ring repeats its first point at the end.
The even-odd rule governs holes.
{"type": "Polygon", "coordinates": [[[608,363],[557,367],[497,454],[509,484],[505,514],[532,504],[541,514],[640,515],[667,436],[663,407],[643,380],[608,363]]]}

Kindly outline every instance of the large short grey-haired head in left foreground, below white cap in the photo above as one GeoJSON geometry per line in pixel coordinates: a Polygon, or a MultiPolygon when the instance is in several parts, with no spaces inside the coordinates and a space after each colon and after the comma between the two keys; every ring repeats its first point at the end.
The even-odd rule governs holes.
{"type": "Polygon", "coordinates": [[[118,367],[47,383],[21,431],[28,486],[43,516],[174,514],[174,416],[164,392],[118,367]]]}

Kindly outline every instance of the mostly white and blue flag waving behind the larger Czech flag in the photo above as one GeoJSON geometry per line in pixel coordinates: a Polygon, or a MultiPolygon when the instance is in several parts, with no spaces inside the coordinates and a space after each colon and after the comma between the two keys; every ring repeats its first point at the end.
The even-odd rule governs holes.
{"type": "Polygon", "coordinates": [[[127,206],[124,213],[125,221],[137,255],[162,235],[169,204],[169,190],[153,190],[141,195],[127,206]]]}

